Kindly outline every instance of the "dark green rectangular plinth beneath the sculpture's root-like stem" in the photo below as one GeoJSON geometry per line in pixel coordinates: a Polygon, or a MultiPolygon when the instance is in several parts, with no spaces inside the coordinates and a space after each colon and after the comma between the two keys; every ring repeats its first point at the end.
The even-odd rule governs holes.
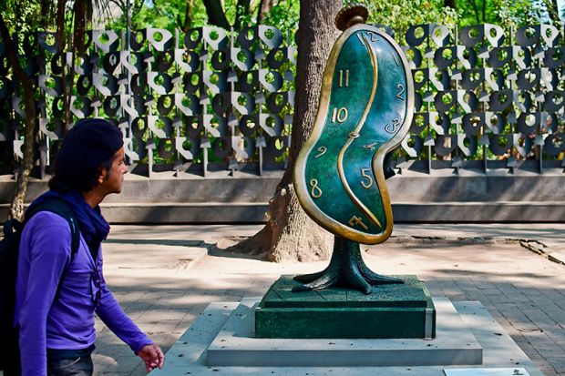
{"type": "Polygon", "coordinates": [[[430,338],[436,309],[424,282],[374,286],[373,293],[331,288],[292,292],[299,282],[282,276],[255,310],[257,338],[430,338]]]}

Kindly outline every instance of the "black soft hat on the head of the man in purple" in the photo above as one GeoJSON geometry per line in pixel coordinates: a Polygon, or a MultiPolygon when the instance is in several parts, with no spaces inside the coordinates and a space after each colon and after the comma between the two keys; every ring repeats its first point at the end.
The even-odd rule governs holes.
{"type": "Polygon", "coordinates": [[[55,162],[55,176],[81,179],[92,174],[124,145],[118,127],[102,118],[77,121],[63,139],[55,162]]]}

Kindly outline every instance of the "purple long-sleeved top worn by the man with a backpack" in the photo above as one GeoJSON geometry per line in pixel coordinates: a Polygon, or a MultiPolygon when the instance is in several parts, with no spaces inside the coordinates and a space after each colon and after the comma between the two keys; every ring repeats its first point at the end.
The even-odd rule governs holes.
{"type": "Polygon", "coordinates": [[[67,219],[39,212],[22,233],[15,323],[20,326],[23,376],[46,375],[46,349],[87,349],[96,340],[94,313],[132,351],[153,343],[119,307],[102,276],[102,249],[92,259],[85,239],[71,260],[67,219]],[[63,271],[67,274],[56,298],[63,271]],[[98,304],[97,304],[98,303],[98,304]]]}

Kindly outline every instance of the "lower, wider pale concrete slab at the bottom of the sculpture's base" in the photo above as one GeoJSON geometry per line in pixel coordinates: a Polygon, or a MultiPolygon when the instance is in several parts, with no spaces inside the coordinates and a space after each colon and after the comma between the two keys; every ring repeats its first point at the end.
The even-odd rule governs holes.
{"type": "MultiPolygon", "coordinates": [[[[442,307],[442,311],[447,313],[447,309],[444,307],[449,307],[449,301],[446,298],[434,300],[437,307],[442,307]]],[[[476,339],[475,344],[471,346],[482,347],[483,349],[483,361],[481,365],[435,365],[435,366],[380,366],[368,368],[368,365],[357,365],[357,366],[325,366],[325,367],[303,367],[299,365],[291,366],[293,357],[300,356],[303,349],[298,351],[293,351],[288,354],[287,362],[279,362],[279,367],[276,366],[261,366],[261,367],[249,367],[249,366],[210,366],[207,364],[207,359],[210,356],[210,351],[207,354],[207,350],[213,347],[223,346],[222,343],[226,343],[228,340],[222,337],[223,334],[218,334],[221,332],[222,328],[224,330],[230,330],[228,325],[228,320],[231,315],[234,317],[241,313],[244,313],[245,307],[247,311],[252,308],[251,300],[243,300],[241,305],[237,302],[226,302],[226,303],[211,303],[204,312],[200,315],[200,318],[196,320],[181,337],[175,345],[167,352],[167,363],[162,370],[155,370],[151,372],[152,376],[155,375],[168,375],[168,376],[180,376],[180,375],[253,375],[253,376],[263,376],[263,375],[306,375],[309,376],[322,376],[322,375],[351,375],[351,376],[365,376],[367,374],[371,375],[382,375],[382,376],[407,376],[407,375],[417,375],[417,376],[445,376],[444,370],[451,369],[478,369],[488,371],[492,369],[515,369],[519,367],[523,368],[529,372],[531,376],[543,376],[543,374],[534,366],[534,364],[529,360],[529,358],[524,354],[523,351],[514,343],[513,340],[508,336],[508,334],[500,327],[498,322],[492,318],[479,302],[455,302],[453,306],[455,310],[450,310],[449,315],[455,317],[459,316],[463,321],[465,326],[467,326],[472,333],[472,336],[476,339]],[[236,310],[237,307],[241,307],[241,311],[236,310]],[[217,342],[214,342],[217,340],[217,342]],[[226,342],[222,342],[225,340],[226,342]]],[[[439,314],[439,310],[438,310],[439,314]]],[[[439,330],[440,327],[438,327],[439,330]]],[[[235,329],[231,329],[235,330],[235,329]]],[[[454,330],[454,328],[449,328],[446,325],[445,330],[454,330]]],[[[231,337],[241,336],[241,331],[232,331],[231,337]]],[[[242,337],[237,337],[241,340],[242,337]]],[[[331,340],[332,343],[337,344],[337,340],[331,340]]],[[[406,340],[402,340],[406,341],[406,340]]],[[[312,340],[304,340],[307,342],[304,346],[309,346],[312,340]]],[[[324,340],[325,348],[331,345],[328,340],[324,340]],[[327,343],[326,343],[327,342],[327,343]]],[[[351,340],[348,342],[351,343],[351,340]]],[[[433,346],[432,341],[426,341],[426,345],[430,344],[433,346]]],[[[228,343],[229,345],[229,343],[228,343]]],[[[358,346],[358,345],[357,345],[358,346]]],[[[427,347],[427,346],[426,346],[427,347]]],[[[431,347],[431,346],[430,346],[431,347]]],[[[264,351],[265,349],[263,349],[264,351]]],[[[359,350],[357,350],[359,352],[359,350]]],[[[212,351],[213,353],[213,351],[212,351]]],[[[266,354],[262,354],[264,358],[270,358],[266,354]]],[[[370,358],[370,355],[360,356],[360,359],[370,358]]],[[[213,362],[213,360],[212,360],[213,362]]],[[[495,373],[496,374],[496,373],[495,373]]]]}

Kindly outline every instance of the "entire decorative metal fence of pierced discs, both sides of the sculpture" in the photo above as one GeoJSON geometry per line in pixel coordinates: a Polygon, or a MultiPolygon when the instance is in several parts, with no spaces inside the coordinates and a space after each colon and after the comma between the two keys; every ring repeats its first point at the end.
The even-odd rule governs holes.
{"type": "MultiPolygon", "coordinates": [[[[565,168],[562,37],[551,25],[415,25],[396,36],[416,86],[415,117],[396,167],[565,168]]],[[[91,31],[75,64],[54,40],[35,33],[19,42],[35,81],[42,174],[64,137],[63,79],[73,84],[72,121],[114,119],[134,172],[260,175],[284,168],[297,68],[293,36],[266,25],[186,34],[148,28],[132,32],[127,44],[125,32],[91,31]]],[[[0,46],[4,173],[22,157],[21,102],[0,46]]]]}

